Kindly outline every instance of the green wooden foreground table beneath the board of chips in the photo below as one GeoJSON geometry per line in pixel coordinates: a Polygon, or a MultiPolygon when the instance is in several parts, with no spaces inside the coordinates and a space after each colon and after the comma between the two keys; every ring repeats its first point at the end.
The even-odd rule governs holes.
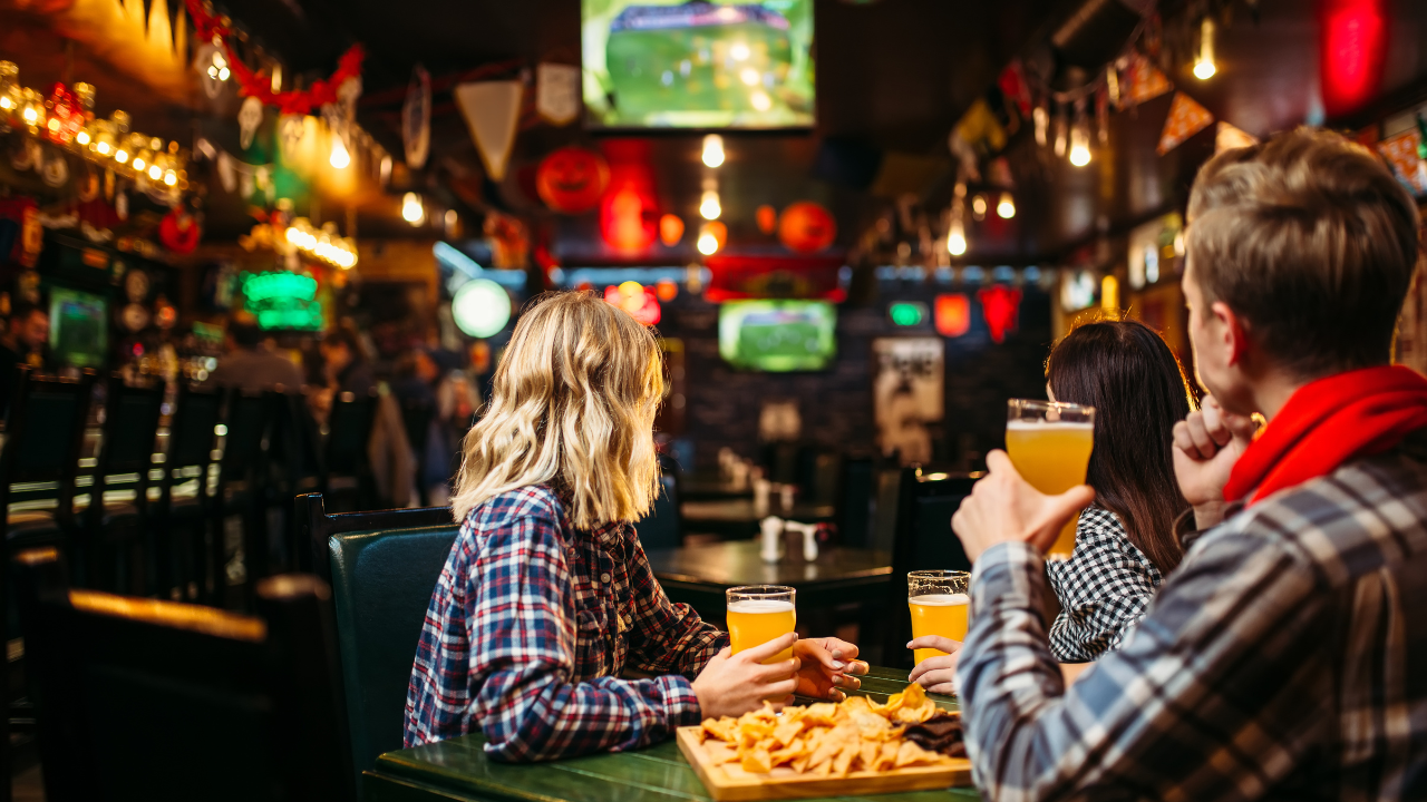
{"type": "MultiPolygon", "coordinates": [[[[906,672],[873,666],[853,691],[885,702],[906,686],[906,672]]],[[[956,709],[952,696],[932,696],[956,709]]],[[[672,741],[639,749],[548,763],[508,765],[487,759],[479,735],[387,752],[364,778],[368,802],[709,802],[704,783],[672,741]]],[[[972,788],[878,796],[846,802],[946,802],[979,799],[972,788]]]]}

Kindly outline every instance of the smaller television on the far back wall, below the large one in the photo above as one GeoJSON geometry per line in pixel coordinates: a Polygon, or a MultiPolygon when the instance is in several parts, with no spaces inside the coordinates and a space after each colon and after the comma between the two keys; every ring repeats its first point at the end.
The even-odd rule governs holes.
{"type": "Polygon", "coordinates": [[[745,370],[818,371],[838,355],[836,327],[828,301],[729,301],[719,307],[718,352],[745,370]]]}

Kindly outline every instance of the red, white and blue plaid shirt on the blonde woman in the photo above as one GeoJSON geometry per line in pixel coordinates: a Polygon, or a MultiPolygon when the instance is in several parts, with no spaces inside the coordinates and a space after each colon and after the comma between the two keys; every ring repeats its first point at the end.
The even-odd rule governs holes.
{"type": "Polygon", "coordinates": [[[579,531],[548,487],[509,491],[467,515],[437,581],[405,743],[479,731],[502,761],[644,746],[699,722],[689,679],[726,645],[664,595],[634,527],[579,531]]]}

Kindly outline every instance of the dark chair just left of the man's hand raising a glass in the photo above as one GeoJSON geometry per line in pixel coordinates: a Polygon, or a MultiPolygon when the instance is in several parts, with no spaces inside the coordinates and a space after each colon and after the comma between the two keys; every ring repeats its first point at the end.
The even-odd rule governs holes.
{"type": "MultiPolygon", "coordinates": [[[[892,584],[888,608],[895,611],[886,622],[882,661],[889,666],[910,668],[912,621],[906,609],[908,571],[970,571],[972,564],[962,541],[952,531],[952,515],[970,495],[980,474],[930,474],[903,468],[898,478],[896,537],[892,545],[892,584]]],[[[880,511],[879,511],[880,514],[880,511]]]]}

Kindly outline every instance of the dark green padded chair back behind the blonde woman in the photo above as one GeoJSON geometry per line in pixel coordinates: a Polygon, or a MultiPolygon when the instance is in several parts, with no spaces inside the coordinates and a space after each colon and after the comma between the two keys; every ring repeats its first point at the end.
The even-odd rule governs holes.
{"type": "Polygon", "coordinates": [[[327,515],[317,492],[297,497],[297,521],[332,585],[360,783],[378,755],[402,746],[411,662],[459,527],[448,507],[327,515]]]}

